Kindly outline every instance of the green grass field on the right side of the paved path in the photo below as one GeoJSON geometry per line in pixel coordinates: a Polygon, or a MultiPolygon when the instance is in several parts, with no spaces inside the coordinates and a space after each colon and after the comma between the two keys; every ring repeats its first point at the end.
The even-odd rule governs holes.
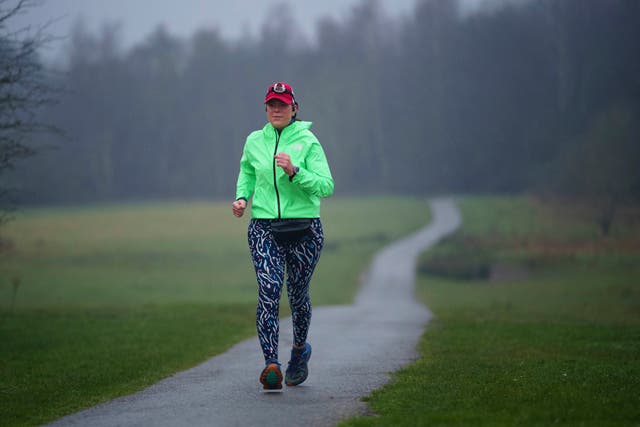
{"type": "Polygon", "coordinates": [[[460,206],[462,230],[422,269],[479,252],[518,274],[421,274],[418,294],[436,317],[420,358],[368,398],[379,416],[341,425],[639,425],[637,220],[601,237],[586,218],[528,198],[460,206]]]}

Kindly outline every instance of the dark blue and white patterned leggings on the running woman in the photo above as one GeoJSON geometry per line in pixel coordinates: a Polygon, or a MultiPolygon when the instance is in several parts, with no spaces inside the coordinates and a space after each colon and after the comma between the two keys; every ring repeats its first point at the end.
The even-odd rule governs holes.
{"type": "Polygon", "coordinates": [[[312,234],[299,242],[280,245],[273,239],[270,220],[252,219],[249,223],[249,249],[258,279],[256,326],[265,361],[278,359],[278,319],[285,267],[293,343],[302,346],[307,340],[311,322],[309,281],[324,243],[320,219],[312,221],[311,230],[312,234]]]}

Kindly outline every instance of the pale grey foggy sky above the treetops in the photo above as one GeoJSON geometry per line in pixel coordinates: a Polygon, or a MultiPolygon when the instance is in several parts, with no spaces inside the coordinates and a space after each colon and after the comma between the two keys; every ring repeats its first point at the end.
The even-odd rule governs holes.
{"type": "MultiPolygon", "coordinates": [[[[409,15],[416,3],[416,0],[379,1],[392,17],[409,15]]],[[[473,10],[487,1],[505,0],[461,1],[467,10],[473,10]]],[[[360,0],[40,0],[38,6],[13,19],[10,25],[19,29],[49,23],[47,33],[64,40],[79,20],[90,32],[99,31],[105,23],[119,23],[120,41],[128,48],[143,40],[158,25],[164,25],[179,37],[189,37],[201,28],[218,29],[228,39],[238,39],[246,33],[257,36],[267,11],[274,5],[288,5],[303,36],[313,41],[319,18],[330,16],[341,21],[358,3],[360,0]]],[[[48,54],[56,54],[63,44],[63,41],[56,43],[48,54]]]]}

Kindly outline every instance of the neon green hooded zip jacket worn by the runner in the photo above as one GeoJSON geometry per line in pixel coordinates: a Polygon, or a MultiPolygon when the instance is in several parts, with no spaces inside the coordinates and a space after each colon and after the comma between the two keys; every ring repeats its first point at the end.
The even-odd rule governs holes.
{"type": "Polygon", "coordinates": [[[295,121],[280,135],[267,123],[247,137],[236,200],[253,196],[251,218],[319,218],[320,198],[333,194],[333,178],[311,122],[295,121]],[[300,170],[289,179],[274,156],[287,153],[300,170]]]}

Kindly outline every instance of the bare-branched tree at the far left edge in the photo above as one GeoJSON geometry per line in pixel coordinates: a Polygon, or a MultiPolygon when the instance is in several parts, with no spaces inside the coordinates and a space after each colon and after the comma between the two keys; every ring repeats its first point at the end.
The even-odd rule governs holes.
{"type": "MultiPolygon", "coordinates": [[[[8,23],[33,7],[28,0],[0,0],[0,177],[20,159],[36,152],[31,136],[52,127],[38,123],[36,113],[51,101],[38,49],[48,39],[44,26],[10,30],[8,23]]],[[[0,224],[7,220],[11,190],[0,183],[0,224]],[[7,204],[8,202],[8,204],[7,204]]]]}

